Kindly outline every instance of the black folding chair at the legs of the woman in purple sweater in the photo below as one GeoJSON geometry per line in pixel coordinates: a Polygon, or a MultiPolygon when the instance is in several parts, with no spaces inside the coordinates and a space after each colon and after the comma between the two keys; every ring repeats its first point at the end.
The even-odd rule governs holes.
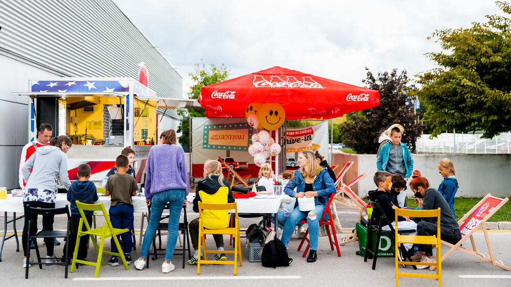
{"type": "MultiPolygon", "coordinates": [[[[169,205],[167,204],[165,206],[164,210],[168,210],[169,205]]],[[[151,208],[149,208],[149,216],[148,218],[151,218],[151,208]]],[[[158,259],[158,255],[164,255],[165,252],[158,251],[165,251],[166,248],[162,248],[161,246],[161,231],[168,231],[169,230],[169,222],[161,222],[161,220],[168,219],[169,215],[161,216],[160,223],[158,224],[158,227],[156,228],[155,236],[153,237],[153,252],[149,252],[148,255],[152,255],[152,260],[158,259]],[[156,237],[158,237],[158,247],[156,247],[156,237]]],[[[148,219],[148,222],[149,222],[148,219]]],[[[179,222],[178,230],[181,231],[181,234],[183,234],[183,248],[180,250],[174,249],[174,255],[182,255],[183,256],[183,268],[185,266],[186,262],[186,251],[188,251],[188,258],[192,257],[192,254],[190,252],[190,233],[188,231],[188,218],[187,218],[187,208],[183,205],[183,222],[179,222]]],[[[146,267],[149,268],[149,260],[146,259],[146,267]]]]}

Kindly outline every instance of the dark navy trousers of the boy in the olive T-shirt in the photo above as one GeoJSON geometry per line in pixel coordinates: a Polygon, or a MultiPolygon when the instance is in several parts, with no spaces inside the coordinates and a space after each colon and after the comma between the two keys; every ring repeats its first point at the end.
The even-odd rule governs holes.
{"type": "MultiPolygon", "coordinates": [[[[133,228],[133,205],[119,203],[114,206],[110,206],[110,210],[108,211],[110,214],[110,222],[112,223],[113,228],[121,228],[128,229],[127,232],[124,232],[117,236],[117,240],[121,243],[121,237],[123,238],[123,252],[128,254],[131,252],[133,248],[133,238],[131,236],[131,229],[133,228]]],[[[112,246],[112,252],[119,252],[117,250],[117,246],[113,241],[113,237],[110,239],[110,244],[112,246]]]]}

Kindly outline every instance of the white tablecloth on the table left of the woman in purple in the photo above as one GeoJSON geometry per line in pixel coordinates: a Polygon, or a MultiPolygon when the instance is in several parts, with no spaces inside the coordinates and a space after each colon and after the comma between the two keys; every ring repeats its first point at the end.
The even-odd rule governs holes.
{"type": "MultiPolygon", "coordinates": [[[[147,212],[146,198],[144,196],[133,196],[131,200],[133,201],[134,212],[147,212]]],[[[99,200],[94,203],[103,203],[106,212],[110,209],[109,196],[100,196],[99,200]]],[[[67,195],[63,193],[57,194],[55,207],[64,207],[66,204],[68,206],[71,205],[71,203],[67,201],[67,195]]],[[[0,199],[0,212],[24,213],[23,197],[13,197],[11,194],[8,194],[7,199],[0,199]]]]}

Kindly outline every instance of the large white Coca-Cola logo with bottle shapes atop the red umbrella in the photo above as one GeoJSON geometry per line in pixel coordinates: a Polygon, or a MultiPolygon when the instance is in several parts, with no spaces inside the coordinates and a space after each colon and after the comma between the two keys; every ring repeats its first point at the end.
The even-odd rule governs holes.
{"type": "Polygon", "coordinates": [[[296,76],[286,76],[284,81],[281,76],[270,76],[268,80],[263,75],[254,75],[252,83],[256,88],[324,89],[321,84],[314,81],[310,76],[301,77],[301,81],[296,79],[296,76]]]}

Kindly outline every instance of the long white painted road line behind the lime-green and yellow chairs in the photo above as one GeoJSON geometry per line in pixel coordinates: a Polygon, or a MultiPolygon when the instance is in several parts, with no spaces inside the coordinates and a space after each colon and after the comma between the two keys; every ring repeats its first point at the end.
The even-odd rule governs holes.
{"type": "Polygon", "coordinates": [[[261,279],[300,279],[301,276],[183,276],[183,277],[78,277],[73,281],[140,281],[140,280],[261,280],[261,279]]]}

